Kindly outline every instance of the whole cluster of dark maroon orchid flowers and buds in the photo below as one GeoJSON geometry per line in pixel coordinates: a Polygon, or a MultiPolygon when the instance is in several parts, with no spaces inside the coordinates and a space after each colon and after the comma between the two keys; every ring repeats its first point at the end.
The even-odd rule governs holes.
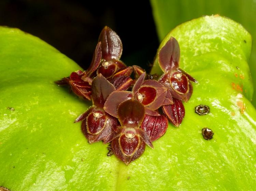
{"type": "Polygon", "coordinates": [[[146,144],[153,148],[152,142],[165,134],[168,119],[175,126],[181,124],[182,101],[189,100],[191,81],[196,80],[179,68],[180,48],[173,37],[158,51],[164,72],[158,80],[139,66],[126,66],[120,60],[122,50],[119,36],[105,27],[89,68],[56,83],[69,85],[77,96],[92,100],[93,106],[75,120],[82,121],[88,142],[111,142],[113,154],[129,164],[142,155],[146,144]]]}

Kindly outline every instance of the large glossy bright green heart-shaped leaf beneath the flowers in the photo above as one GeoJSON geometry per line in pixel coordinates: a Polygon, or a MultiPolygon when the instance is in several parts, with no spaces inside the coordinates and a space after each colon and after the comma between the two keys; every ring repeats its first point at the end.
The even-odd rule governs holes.
{"type": "MultiPolygon", "coordinates": [[[[212,16],[184,23],[170,36],[179,41],[181,68],[199,84],[185,103],[180,127],[169,125],[153,142],[154,150],[147,146],[126,166],[106,156],[107,145],[88,144],[80,123],[73,123],[90,102],[53,83],[79,66],[36,37],[0,28],[0,186],[13,191],[255,189],[256,112],[247,100],[253,92],[250,34],[232,20],[212,16]],[[200,104],[210,113],[196,114],[200,104]],[[213,139],[203,139],[204,127],[212,129],[213,139]]],[[[160,72],[157,65],[153,72],[160,72]]]]}

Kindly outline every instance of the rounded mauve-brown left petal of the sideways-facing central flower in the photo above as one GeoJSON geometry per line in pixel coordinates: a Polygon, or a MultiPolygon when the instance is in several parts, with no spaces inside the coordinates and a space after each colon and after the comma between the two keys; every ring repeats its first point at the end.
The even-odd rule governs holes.
{"type": "Polygon", "coordinates": [[[132,98],[131,91],[114,91],[104,104],[104,110],[110,115],[117,117],[117,108],[120,103],[132,98]]]}

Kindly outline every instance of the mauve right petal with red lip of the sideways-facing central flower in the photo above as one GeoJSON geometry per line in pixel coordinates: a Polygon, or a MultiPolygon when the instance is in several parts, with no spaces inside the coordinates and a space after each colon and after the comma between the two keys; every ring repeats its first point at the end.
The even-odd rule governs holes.
{"type": "Polygon", "coordinates": [[[146,105],[146,103],[147,103],[147,106],[153,110],[156,110],[162,106],[162,103],[165,100],[166,92],[167,92],[167,88],[165,86],[163,86],[162,84],[160,84],[159,82],[157,82],[155,80],[145,80],[142,84],[142,87],[138,91],[139,93],[141,93],[143,95],[142,90],[145,90],[145,93],[144,93],[145,96],[142,101],[143,105],[146,105]],[[145,89],[145,87],[147,89],[145,89]],[[151,87],[151,88],[149,88],[149,87],[151,87]],[[152,88],[155,89],[155,92],[152,88]],[[146,96],[146,92],[147,92],[147,95],[149,95],[148,96],[149,99],[146,96]],[[150,93],[148,93],[148,92],[150,92],[150,93]],[[151,98],[152,102],[150,102],[150,98],[151,98]]]}

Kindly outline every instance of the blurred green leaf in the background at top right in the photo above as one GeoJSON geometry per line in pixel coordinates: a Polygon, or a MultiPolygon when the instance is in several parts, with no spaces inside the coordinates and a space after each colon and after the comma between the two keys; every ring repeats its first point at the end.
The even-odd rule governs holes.
{"type": "MultiPolygon", "coordinates": [[[[203,15],[220,14],[241,23],[256,39],[256,1],[255,0],[151,0],[153,15],[159,40],[185,21],[203,15]]],[[[253,43],[249,66],[254,89],[256,89],[256,43],[253,43]]],[[[252,101],[256,107],[256,93],[252,101]]]]}

